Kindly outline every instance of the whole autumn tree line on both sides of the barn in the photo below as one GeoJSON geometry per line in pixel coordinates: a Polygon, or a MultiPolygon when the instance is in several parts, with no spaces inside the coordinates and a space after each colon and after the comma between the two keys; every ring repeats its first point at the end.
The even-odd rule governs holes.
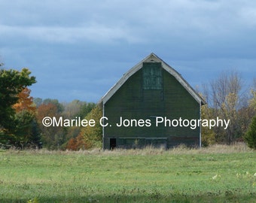
{"type": "MultiPolygon", "coordinates": [[[[1,65],[2,66],[2,65],[1,65]]],[[[102,145],[102,127],[45,127],[44,117],[99,120],[102,110],[93,102],[59,102],[32,98],[29,86],[36,83],[31,71],[0,67],[0,147],[47,147],[51,150],[80,150],[102,145]]],[[[202,127],[202,144],[233,144],[245,141],[256,148],[256,80],[245,89],[236,71],[226,71],[203,85],[200,95],[206,100],[202,119],[230,120],[227,129],[202,127]]]]}

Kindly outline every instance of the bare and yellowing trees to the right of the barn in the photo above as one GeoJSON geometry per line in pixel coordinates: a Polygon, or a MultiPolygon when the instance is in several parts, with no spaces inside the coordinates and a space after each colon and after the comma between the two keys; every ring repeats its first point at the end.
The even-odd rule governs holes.
{"type": "Polygon", "coordinates": [[[227,129],[221,126],[202,128],[204,146],[245,141],[249,147],[256,148],[256,129],[253,134],[249,133],[252,120],[256,117],[256,79],[246,89],[237,71],[225,71],[215,80],[204,84],[201,95],[207,103],[201,110],[203,119],[219,117],[230,120],[227,129]]]}

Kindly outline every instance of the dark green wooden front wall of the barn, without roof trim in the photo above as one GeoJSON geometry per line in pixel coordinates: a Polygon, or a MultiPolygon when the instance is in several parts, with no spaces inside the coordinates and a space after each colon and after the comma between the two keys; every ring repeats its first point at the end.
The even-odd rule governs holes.
{"type": "Polygon", "coordinates": [[[105,117],[108,117],[109,123],[104,129],[106,149],[110,147],[109,138],[117,138],[117,147],[153,144],[169,148],[181,143],[199,144],[200,128],[191,130],[189,127],[155,126],[155,117],[167,117],[170,120],[179,117],[189,120],[200,118],[200,104],[163,68],[161,74],[162,89],[143,89],[143,68],[140,69],[105,103],[105,117]],[[117,127],[120,117],[128,120],[151,120],[151,126],[117,127]]]}

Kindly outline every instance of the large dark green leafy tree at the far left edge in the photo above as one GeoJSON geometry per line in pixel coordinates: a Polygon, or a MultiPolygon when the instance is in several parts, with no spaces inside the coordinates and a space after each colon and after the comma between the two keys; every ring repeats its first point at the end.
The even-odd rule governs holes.
{"type": "Polygon", "coordinates": [[[19,100],[18,94],[36,82],[29,76],[28,68],[21,71],[0,69],[0,131],[12,129],[15,111],[13,105],[19,100]]]}

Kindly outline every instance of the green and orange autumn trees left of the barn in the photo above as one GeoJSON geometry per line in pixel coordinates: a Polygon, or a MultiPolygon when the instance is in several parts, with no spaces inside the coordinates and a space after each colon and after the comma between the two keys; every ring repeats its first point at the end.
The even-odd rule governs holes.
{"type": "Polygon", "coordinates": [[[0,69],[0,148],[41,148],[79,150],[99,147],[99,127],[45,127],[44,117],[96,117],[101,114],[93,102],[59,102],[57,99],[32,98],[29,86],[36,83],[31,71],[23,68],[0,69]],[[98,132],[97,132],[98,130],[98,132]]]}

